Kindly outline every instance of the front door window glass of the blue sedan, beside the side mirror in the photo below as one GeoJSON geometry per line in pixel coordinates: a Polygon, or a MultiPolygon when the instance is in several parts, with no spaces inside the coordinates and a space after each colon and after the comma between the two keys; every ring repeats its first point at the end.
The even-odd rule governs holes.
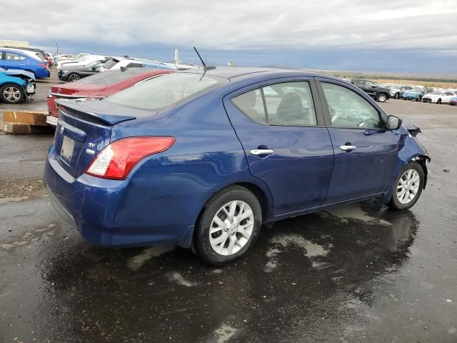
{"type": "Polygon", "coordinates": [[[333,126],[382,128],[378,111],[355,91],[326,82],[321,85],[333,126]]]}

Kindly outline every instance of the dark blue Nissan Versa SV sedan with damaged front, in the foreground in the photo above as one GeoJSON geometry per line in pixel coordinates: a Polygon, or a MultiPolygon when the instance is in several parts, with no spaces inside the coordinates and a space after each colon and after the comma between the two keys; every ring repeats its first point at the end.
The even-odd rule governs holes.
{"type": "Polygon", "coordinates": [[[56,102],[45,181],[94,244],[179,244],[222,265],[262,224],[374,198],[408,209],[426,187],[418,128],[330,76],[180,71],[56,102]]]}

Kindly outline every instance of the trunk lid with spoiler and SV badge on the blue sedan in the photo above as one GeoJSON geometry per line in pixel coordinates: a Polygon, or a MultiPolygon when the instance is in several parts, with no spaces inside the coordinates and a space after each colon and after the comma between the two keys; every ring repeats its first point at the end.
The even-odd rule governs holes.
{"type": "Polygon", "coordinates": [[[129,112],[126,107],[116,111],[114,106],[101,102],[56,100],[60,114],[54,139],[56,159],[73,177],[81,176],[110,143],[113,125],[136,119],[135,115],[121,114],[129,112]]]}

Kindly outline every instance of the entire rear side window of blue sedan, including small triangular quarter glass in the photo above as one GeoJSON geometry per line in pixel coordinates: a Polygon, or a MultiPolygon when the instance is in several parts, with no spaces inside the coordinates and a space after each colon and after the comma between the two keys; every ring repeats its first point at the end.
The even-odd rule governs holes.
{"type": "Polygon", "coordinates": [[[235,96],[231,101],[254,121],[271,125],[317,124],[313,97],[307,81],[271,84],[235,96]]]}

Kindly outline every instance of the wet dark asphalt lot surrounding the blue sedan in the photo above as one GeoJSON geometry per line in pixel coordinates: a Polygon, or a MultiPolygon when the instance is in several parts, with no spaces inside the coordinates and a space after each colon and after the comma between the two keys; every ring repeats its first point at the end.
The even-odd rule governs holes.
{"type": "Polygon", "coordinates": [[[0,342],[457,342],[457,108],[383,107],[432,156],[410,211],[277,222],[220,269],[84,242],[41,181],[52,137],[0,133],[0,342]]]}

